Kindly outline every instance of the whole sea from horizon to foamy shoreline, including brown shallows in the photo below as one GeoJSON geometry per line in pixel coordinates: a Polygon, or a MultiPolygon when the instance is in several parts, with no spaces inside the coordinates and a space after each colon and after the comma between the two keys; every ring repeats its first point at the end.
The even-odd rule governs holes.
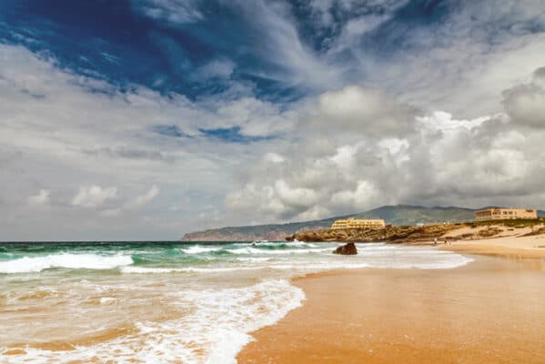
{"type": "Polygon", "coordinates": [[[471,260],[382,243],[332,254],[339,245],[0,243],[0,362],[235,363],[252,331],[304,303],[290,278],[471,260]]]}

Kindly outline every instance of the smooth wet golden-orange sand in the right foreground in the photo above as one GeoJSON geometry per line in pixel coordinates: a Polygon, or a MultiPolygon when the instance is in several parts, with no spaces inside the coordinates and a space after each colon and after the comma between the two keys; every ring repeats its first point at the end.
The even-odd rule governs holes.
{"type": "Polygon", "coordinates": [[[454,269],[294,279],[307,300],[239,363],[544,363],[545,264],[471,256],[454,269]]]}

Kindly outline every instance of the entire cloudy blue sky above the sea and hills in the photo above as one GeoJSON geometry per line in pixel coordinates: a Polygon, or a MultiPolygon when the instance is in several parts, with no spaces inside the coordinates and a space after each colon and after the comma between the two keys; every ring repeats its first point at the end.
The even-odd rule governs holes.
{"type": "Polygon", "coordinates": [[[3,0],[0,240],[545,208],[545,0],[3,0]]]}

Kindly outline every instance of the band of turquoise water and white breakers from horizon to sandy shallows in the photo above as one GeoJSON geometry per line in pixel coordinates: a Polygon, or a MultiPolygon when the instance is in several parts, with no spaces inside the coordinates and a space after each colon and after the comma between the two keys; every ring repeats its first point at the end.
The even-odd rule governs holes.
{"type": "Polygon", "coordinates": [[[248,268],[449,268],[460,260],[457,255],[435,249],[385,244],[359,244],[357,257],[341,257],[331,254],[338,245],[268,241],[3,243],[0,274],[51,269],[137,273],[248,268]]]}

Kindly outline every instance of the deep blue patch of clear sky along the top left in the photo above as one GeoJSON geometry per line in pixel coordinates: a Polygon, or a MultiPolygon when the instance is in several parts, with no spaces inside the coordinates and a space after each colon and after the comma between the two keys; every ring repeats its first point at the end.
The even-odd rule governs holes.
{"type": "Polygon", "coordinates": [[[358,45],[368,58],[391,59],[401,52],[419,52],[422,45],[411,32],[440,25],[456,11],[456,4],[446,1],[361,1],[332,5],[328,15],[309,1],[269,3],[270,9],[264,4],[14,0],[0,5],[0,20],[4,43],[25,45],[36,54],[55,57],[59,67],[120,88],[138,84],[195,100],[222,93],[227,80],[235,80],[260,98],[285,102],[330,85],[293,79],[297,66],[282,59],[278,44],[297,41],[305,48],[301,53],[318,62],[323,57],[324,66],[342,64],[337,82],[354,73],[365,81],[357,56],[348,48],[335,49],[348,22],[365,17],[372,18],[372,25],[388,16],[360,36],[358,45]],[[276,12],[278,19],[267,18],[267,12],[276,12]],[[278,34],[269,34],[267,21],[278,27],[278,34]],[[289,35],[299,39],[277,39],[289,35]]]}

